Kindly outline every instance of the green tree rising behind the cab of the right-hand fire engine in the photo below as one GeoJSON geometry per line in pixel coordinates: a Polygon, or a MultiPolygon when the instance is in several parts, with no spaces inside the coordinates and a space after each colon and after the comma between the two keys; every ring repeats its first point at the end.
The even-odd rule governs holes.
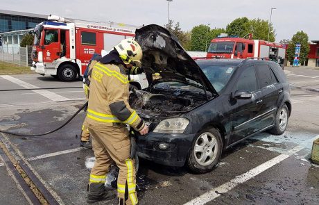
{"type": "Polygon", "coordinates": [[[243,37],[247,34],[249,28],[248,22],[249,19],[247,17],[234,19],[234,21],[226,26],[226,33],[228,33],[228,35],[243,37]]]}

